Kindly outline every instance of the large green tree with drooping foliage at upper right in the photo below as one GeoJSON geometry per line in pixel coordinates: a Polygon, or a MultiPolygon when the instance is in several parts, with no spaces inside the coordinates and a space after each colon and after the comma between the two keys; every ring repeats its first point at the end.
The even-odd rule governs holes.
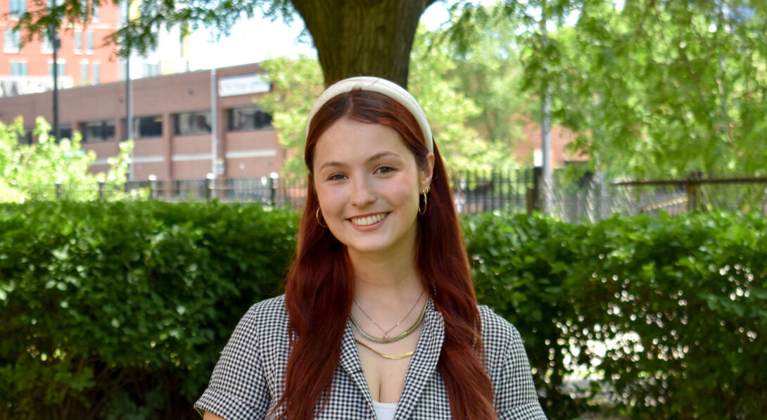
{"type": "Polygon", "coordinates": [[[574,149],[612,176],[761,175],[767,163],[763,2],[581,2],[547,43],[528,34],[528,87],[548,84],[574,149]]]}

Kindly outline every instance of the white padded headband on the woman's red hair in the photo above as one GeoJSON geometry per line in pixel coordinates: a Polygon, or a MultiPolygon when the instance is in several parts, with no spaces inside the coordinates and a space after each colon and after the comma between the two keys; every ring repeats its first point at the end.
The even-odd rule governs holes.
{"type": "Polygon", "coordinates": [[[432,137],[431,127],[429,126],[429,121],[426,120],[426,114],[423,113],[416,98],[408,93],[407,90],[404,90],[400,85],[386,79],[381,79],[380,77],[349,77],[348,79],[338,81],[328,87],[328,89],[325,89],[320,97],[317,98],[317,101],[314,102],[314,107],[311,107],[311,112],[309,112],[309,118],[306,122],[306,134],[309,133],[309,123],[311,123],[311,119],[314,118],[314,114],[317,113],[328,100],[331,100],[340,94],[351,92],[351,90],[354,89],[372,90],[379,94],[384,94],[402,104],[403,107],[406,107],[407,110],[416,117],[416,121],[418,121],[418,125],[421,127],[423,141],[426,142],[426,149],[429,149],[432,153],[434,152],[434,139],[432,137]]]}

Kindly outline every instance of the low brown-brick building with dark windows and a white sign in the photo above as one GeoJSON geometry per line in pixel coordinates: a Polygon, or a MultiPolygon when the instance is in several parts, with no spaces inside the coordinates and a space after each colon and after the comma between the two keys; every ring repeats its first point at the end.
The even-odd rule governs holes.
{"type": "MultiPolygon", "coordinates": [[[[259,74],[261,67],[247,64],[132,80],[132,179],[279,173],[285,151],[271,116],[258,106],[258,98],[271,89],[259,74]]],[[[126,98],[123,81],[59,92],[62,137],[72,130],[82,133],[84,149],[97,155],[94,172],[109,168],[107,159],[117,156],[118,142],[127,138],[126,98]]],[[[24,118],[28,132],[37,116],[51,121],[51,93],[0,98],[0,120],[10,123],[16,116],[24,118]]]]}

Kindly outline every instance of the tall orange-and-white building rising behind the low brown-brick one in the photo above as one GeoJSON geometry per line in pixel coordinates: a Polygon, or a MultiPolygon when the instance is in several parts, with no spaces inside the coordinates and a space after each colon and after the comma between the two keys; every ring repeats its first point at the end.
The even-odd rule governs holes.
{"type": "MultiPolygon", "coordinates": [[[[51,0],[48,0],[50,4],[51,0]]],[[[137,18],[140,2],[102,2],[84,0],[87,23],[64,21],[58,31],[58,87],[60,89],[153,77],[189,71],[189,47],[179,27],[163,28],[157,33],[156,47],[145,54],[130,54],[130,66],[117,56],[117,46],[107,41],[130,13],[137,18]]],[[[53,89],[53,43],[48,35],[34,35],[31,41],[15,31],[19,16],[34,13],[43,6],[38,0],[0,0],[0,97],[35,94],[53,89]]]]}

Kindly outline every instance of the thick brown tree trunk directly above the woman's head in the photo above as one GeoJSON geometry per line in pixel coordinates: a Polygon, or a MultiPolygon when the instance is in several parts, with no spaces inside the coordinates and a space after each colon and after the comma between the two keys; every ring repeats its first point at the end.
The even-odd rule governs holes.
{"type": "Polygon", "coordinates": [[[418,21],[436,0],[293,0],[311,33],[325,84],[378,76],[407,87],[418,21]]]}

